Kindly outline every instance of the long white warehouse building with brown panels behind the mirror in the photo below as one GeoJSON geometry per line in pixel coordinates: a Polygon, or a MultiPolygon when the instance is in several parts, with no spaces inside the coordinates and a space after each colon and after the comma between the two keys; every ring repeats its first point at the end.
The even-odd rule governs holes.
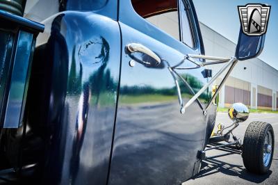
{"type": "MultiPolygon", "coordinates": [[[[234,56],[236,44],[200,23],[206,55],[234,56]]],[[[213,75],[222,65],[211,66],[213,75]]],[[[219,84],[220,77],[215,81],[219,84]]],[[[224,88],[220,90],[220,107],[243,102],[250,108],[278,110],[278,70],[259,58],[239,61],[224,88]]]]}

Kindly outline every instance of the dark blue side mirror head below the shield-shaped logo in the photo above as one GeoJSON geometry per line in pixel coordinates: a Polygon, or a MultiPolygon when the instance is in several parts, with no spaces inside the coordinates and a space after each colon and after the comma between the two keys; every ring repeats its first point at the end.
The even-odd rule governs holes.
{"type": "Polygon", "coordinates": [[[265,43],[265,34],[260,36],[249,36],[243,33],[240,29],[238,36],[238,45],[236,46],[236,58],[238,61],[244,61],[250,58],[255,58],[263,51],[265,43]]]}

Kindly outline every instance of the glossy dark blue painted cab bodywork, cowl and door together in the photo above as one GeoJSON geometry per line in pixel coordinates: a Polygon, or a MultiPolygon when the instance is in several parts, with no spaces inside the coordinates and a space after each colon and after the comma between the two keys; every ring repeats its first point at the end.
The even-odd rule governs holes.
{"type": "MultiPolygon", "coordinates": [[[[195,49],[138,16],[130,0],[60,1],[62,12],[43,22],[28,90],[23,161],[37,163],[33,184],[180,184],[198,172],[215,106],[203,115],[195,102],[181,115],[165,63],[204,54],[189,3],[195,49]],[[127,53],[130,42],[165,61],[130,67],[131,58],[151,60],[127,53]]],[[[202,70],[181,74],[198,90],[207,81],[202,70]]],[[[192,95],[182,90],[187,101],[192,95]]]]}

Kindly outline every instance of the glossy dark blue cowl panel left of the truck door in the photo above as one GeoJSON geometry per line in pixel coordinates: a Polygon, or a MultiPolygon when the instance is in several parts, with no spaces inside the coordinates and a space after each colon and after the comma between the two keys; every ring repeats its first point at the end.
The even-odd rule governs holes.
{"type": "Polygon", "coordinates": [[[43,22],[28,92],[26,143],[35,143],[39,161],[34,184],[106,184],[120,77],[116,14],[108,1],[43,22]]]}

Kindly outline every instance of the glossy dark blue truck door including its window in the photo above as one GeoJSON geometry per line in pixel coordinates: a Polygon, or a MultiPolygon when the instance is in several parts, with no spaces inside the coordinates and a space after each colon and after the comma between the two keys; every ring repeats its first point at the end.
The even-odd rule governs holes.
{"type": "MultiPolygon", "coordinates": [[[[121,0],[120,95],[108,184],[181,184],[199,169],[207,115],[197,102],[180,113],[177,88],[168,66],[186,54],[201,54],[198,22],[189,1],[121,0]],[[150,49],[161,63],[127,45],[150,49]]],[[[186,61],[185,67],[195,66],[186,61]]],[[[197,92],[206,83],[202,68],[180,70],[197,92]]],[[[180,83],[182,86],[182,84],[180,83]]],[[[181,88],[183,102],[192,95],[181,88]]],[[[202,106],[208,92],[199,99],[202,106]]]]}

